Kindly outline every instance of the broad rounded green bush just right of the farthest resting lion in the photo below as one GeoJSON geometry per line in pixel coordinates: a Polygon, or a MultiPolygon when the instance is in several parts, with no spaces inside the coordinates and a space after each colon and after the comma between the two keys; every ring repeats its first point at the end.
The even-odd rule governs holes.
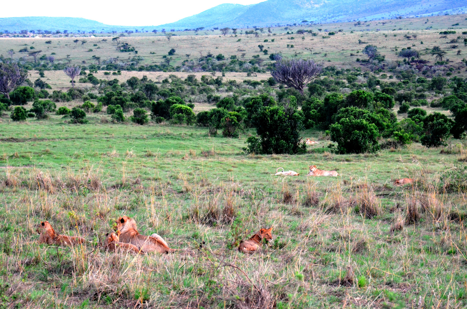
{"type": "Polygon", "coordinates": [[[378,128],[365,119],[350,116],[342,118],[329,127],[331,140],[338,143],[340,154],[360,154],[376,152],[380,149],[378,128]]]}

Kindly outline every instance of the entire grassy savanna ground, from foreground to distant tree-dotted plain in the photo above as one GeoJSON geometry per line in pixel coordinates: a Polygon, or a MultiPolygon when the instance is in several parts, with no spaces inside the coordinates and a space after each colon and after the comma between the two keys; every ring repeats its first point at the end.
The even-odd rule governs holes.
{"type": "MultiPolygon", "coordinates": [[[[161,35],[120,37],[135,46],[138,54],[120,53],[111,37],[107,42],[102,37],[86,38],[83,45],[74,43],[76,38],[66,37],[1,38],[0,53],[5,56],[7,50],[14,49],[14,58],[21,56],[17,49],[24,44],[41,44],[35,50],[47,50],[48,55],[53,50],[57,63],[82,64],[88,73],[94,71],[89,68],[90,63],[99,65],[92,56],[101,57],[101,62],[122,55],[126,58],[128,54],[130,58],[142,56],[144,59],[138,64],[144,66],[163,62],[166,58],[162,56],[171,48],[176,49],[172,69],[166,72],[118,72],[99,67],[92,73],[99,80],[97,84],[80,83],[78,78],[87,75],[79,76],[75,87],[81,92],[72,91],[70,97],[57,95],[53,98],[57,108],[82,105],[85,95],[86,100],[97,104],[97,99],[89,94],[100,97],[120,91],[119,96],[127,98],[130,95],[124,97],[125,93],[134,95],[139,86],[153,82],[158,91],[165,92],[148,94],[148,101],[166,99],[167,92],[193,103],[196,113],[214,108],[216,100],[224,97],[236,98],[241,105],[244,99],[267,94],[280,102],[279,93],[286,90],[268,84],[268,65],[258,66],[256,71],[238,67],[237,71],[222,73],[176,70],[188,58],[186,54],[198,59],[208,52],[214,56],[221,53],[229,60],[234,55],[249,60],[261,54],[264,63],[269,62],[269,57],[259,52],[258,44],[263,44],[269,53],[297,53],[323,60],[329,68],[318,80],[333,82],[320,84],[325,93],[318,95],[319,99],[330,92],[347,94],[354,89],[378,91],[394,87],[400,93],[423,95],[427,103],[432,103],[443,102],[443,98],[454,93],[453,77],[465,78],[466,64],[461,61],[467,52],[463,45],[466,35],[461,35],[465,30],[461,28],[467,28],[465,18],[448,15],[429,17],[429,21],[370,21],[370,27],[328,24],[322,26],[323,33],[305,34],[304,40],[301,35],[284,34],[298,27],[271,28],[273,34],[268,36],[266,32],[259,37],[219,37],[217,32],[177,33],[170,42],[161,35]],[[456,34],[440,38],[440,31],[457,22],[460,25],[456,26],[456,34]],[[429,26],[432,29],[426,30],[429,26]],[[328,32],[324,33],[324,29],[334,28],[344,31],[322,38],[328,32]],[[361,28],[365,31],[361,32],[361,28]],[[295,38],[292,40],[291,36],[295,38]],[[270,42],[273,38],[275,41],[270,42]],[[269,42],[264,42],[266,39],[269,42]],[[359,39],[365,41],[364,45],[377,45],[386,57],[384,63],[356,62],[357,57],[366,58],[361,56],[364,45],[359,44],[359,39]],[[446,43],[455,39],[459,43],[446,43]],[[52,42],[46,45],[48,40],[52,42]],[[287,44],[294,47],[287,48],[287,44]],[[450,48],[453,44],[458,47],[450,48]],[[435,45],[446,50],[444,64],[434,65],[429,51],[435,45]],[[396,48],[402,47],[421,51],[421,59],[430,61],[425,64],[432,67],[423,74],[414,65],[403,64],[402,58],[396,56],[396,48]],[[86,51],[90,48],[92,52],[86,51]],[[396,77],[403,75],[404,70],[410,71],[410,75],[401,78],[407,83],[396,77]],[[210,73],[214,73],[212,77],[210,73]],[[194,75],[198,81],[188,81],[188,75],[194,75]],[[207,84],[199,82],[203,75],[210,76],[204,79],[207,84]],[[354,80],[347,79],[347,75],[354,76],[354,80]],[[446,77],[444,88],[429,89],[426,85],[432,77],[439,76],[446,77]],[[134,86],[128,82],[131,77],[137,77],[134,86]],[[419,82],[420,77],[425,82],[419,82]],[[118,83],[110,85],[114,78],[118,83]],[[218,84],[214,78],[218,78],[218,84]],[[380,84],[369,87],[371,78],[380,84]],[[244,82],[245,79],[250,81],[244,82]],[[259,84],[251,86],[251,81],[259,84]]],[[[66,93],[70,78],[62,70],[51,70],[50,63],[43,63],[44,70],[28,71],[30,80],[34,82],[42,72],[41,78],[50,84],[50,91],[66,93]]],[[[306,90],[302,101],[311,95],[306,90]]],[[[137,106],[129,102],[126,117],[137,106]]],[[[150,109],[145,100],[138,102],[150,109]]],[[[32,102],[23,106],[30,109],[32,102]]],[[[393,111],[398,108],[396,104],[393,111]]],[[[448,109],[437,104],[420,108],[452,118],[448,109]]],[[[225,138],[220,132],[208,133],[205,126],[176,125],[170,120],[141,126],[128,120],[113,121],[105,105],[102,111],[88,111],[88,123],[80,125],[72,124],[69,116],[54,113],[49,113],[47,119],[12,121],[10,113],[3,111],[0,118],[0,198],[4,205],[0,210],[1,306],[467,306],[465,139],[449,138],[445,147],[428,148],[415,140],[405,146],[393,143],[375,153],[338,155],[329,148],[329,134],[318,127],[301,132],[304,138],[319,142],[308,146],[305,154],[255,155],[246,154],[243,149],[247,138],[255,135],[255,129],[248,127],[240,130],[238,138],[225,138]],[[339,176],[306,177],[310,165],[336,170],[339,176]],[[271,175],[279,167],[300,175],[271,175]],[[403,177],[413,178],[414,185],[393,185],[403,177]],[[104,252],[101,246],[106,233],[115,228],[115,220],[123,215],[136,220],[141,234],[156,232],[171,248],[190,248],[194,254],[104,252]],[[85,237],[86,244],[38,244],[36,225],[44,220],[56,232],[85,237]],[[236,249],[240,240],[263,227],[273,228],[274,239],[269,245],[264,244],[254,254],[236,249]]],[[[397,114],[398,120],[405,118],[407,113],[397,114]]],[[[381,138],[380,142],[388,144],[386,139],[381,138]]]]}

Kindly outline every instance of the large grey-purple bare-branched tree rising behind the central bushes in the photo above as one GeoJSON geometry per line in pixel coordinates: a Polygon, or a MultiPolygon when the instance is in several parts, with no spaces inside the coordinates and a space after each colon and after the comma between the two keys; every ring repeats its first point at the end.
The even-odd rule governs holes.
{"type": "Polygon", "coordinates": [[[276,63],[271,71],[272,77],[278,83],[297,89],[301,95],[303,95],[304,86],[323,70],[323,67],[315,63],[313,59],[282,59],[280,55],[276,56],[275,59],[276,63]]]}

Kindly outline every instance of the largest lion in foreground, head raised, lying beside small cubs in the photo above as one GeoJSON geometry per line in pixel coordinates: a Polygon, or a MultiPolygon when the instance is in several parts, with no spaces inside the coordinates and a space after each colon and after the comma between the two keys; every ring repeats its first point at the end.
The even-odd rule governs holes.
{"type": "Polygon", "coordinates": [[[120,242],[132,244],[142,252],[149,253],[156,251],[158,253],[174,253],[180,251],[189,254],[193,253],[190,249],[170,248],[165,240],[156,233],[151,236],[141,235],[137,230],[136,221],[127,216],[118,218],[116,223],[120,242]]]}

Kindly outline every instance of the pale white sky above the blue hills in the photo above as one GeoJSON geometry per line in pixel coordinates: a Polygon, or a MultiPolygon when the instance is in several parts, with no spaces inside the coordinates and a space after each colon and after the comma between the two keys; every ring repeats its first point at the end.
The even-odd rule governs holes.
{"type": "Polygon", "coordinates": [[[108,25],[157,26],[201,13],[222,3],[254,4],[264,0],[5,1],[0,17],[82,17],[108,25]]]}

